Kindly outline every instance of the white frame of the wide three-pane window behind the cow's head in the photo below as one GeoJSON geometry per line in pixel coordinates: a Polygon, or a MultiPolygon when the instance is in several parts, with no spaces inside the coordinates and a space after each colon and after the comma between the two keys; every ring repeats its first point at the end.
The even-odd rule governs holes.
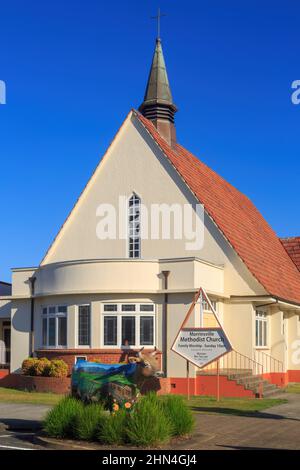
{"type": "Polygon", "coordinates": [[[157,331],[157,315],[156,305],[152,302],[103,302],[101,303],[101,331],[100,331],[100,344],[102,349],[124,349],[122,342],[122,317],[135,317],[135,344],[128,346],[128,349],[153,349],[156,346],[156,331],[157,331]],[[116,311],[104,311],[105,305],[117,305],[116,311]],[[122,311],[122,305],[135,305],[135,311],[122,311]],[[152,305],[153,311],[141,311],[141,305],[152,305]],[[106,345],[104,344],[104,318],[105,317],[117,317],[117,344],[106,345]],[[141,317],[152,317],[153,318],[153,344],[143,345],[140,344],[140,319],[141,317]]]}

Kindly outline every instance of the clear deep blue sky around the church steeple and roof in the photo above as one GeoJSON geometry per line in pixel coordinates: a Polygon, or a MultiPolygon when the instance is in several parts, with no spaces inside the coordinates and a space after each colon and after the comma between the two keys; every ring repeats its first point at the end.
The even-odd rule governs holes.
{"type": "Polygon", "coordinates": [[[178,140],[280,236],[300,235],[297,0],[10,0],[0,3],[1,280],[39,263],[141,103],[158,6],[178,140]]]}

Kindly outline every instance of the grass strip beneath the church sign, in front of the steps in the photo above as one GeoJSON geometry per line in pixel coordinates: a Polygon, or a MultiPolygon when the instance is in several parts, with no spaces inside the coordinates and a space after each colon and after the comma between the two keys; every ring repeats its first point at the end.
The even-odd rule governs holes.
{"type": "Polygon", "coordinates": [[[253,416],[259,411],[275,405],[287,403],[278,398],[221,398],[217,402],[214,397],[191,397],[187,400],[190,408],[196,413],[223,413],[238,416],[253,416]]]}

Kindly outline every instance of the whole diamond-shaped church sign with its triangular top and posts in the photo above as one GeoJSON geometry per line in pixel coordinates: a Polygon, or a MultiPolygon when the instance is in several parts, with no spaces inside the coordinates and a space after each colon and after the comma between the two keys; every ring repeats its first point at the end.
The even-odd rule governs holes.
{"type": "Polygon", "coordinates": [[[217,400],[220,399],[220,361],[219,359],[232,350],[229,339],[222,327],[218,314],[211,304],[206,292],[200,287],[186,317],[179,329],[179,332],[171,347],[172,351],[179,354],[187,361],[187,391],[190,396],[190,370],[191,362],[199,368],[203,368],[212,362],[217,361],[217,400]],[[194,311],[195,305],[200,299],[200,327],[187,326],[187,322],[194,311]],[[215,316],[218,326],[203,326],[203,301],[209,305],[215,316]]]}

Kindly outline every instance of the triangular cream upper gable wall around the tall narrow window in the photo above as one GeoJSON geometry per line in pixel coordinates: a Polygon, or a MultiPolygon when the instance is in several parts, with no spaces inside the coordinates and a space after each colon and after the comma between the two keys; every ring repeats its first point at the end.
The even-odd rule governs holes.
{"type": "MultiPolygon", "coordinates": [[[[97,238],[96,225],[100,218],[96,217],[96,210],[100,203],[118,208],[119,195],[129,197],[133,192],[147,208],[153,203],[182,206],[189,203],[195,208],[197,203],[135,118],[125,122],[42,264],[126,258],[126,240],[97,238]]],[[[207,215],[204,245],[200,250],[186,250],[186,240],[142,240],[143,259],[180,257],[197,257],[224,265],[225,294],[264,292],[207,215]]]]}

